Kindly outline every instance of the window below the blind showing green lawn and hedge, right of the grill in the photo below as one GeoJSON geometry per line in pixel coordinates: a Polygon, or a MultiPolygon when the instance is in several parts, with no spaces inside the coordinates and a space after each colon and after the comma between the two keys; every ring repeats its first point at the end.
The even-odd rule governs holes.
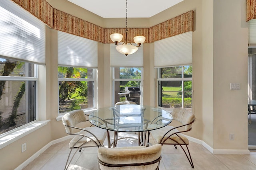
{"type": "Polygon", "coordinates": [[[192,66],[158,68],[158,106],[192,108],[192,66]]]}

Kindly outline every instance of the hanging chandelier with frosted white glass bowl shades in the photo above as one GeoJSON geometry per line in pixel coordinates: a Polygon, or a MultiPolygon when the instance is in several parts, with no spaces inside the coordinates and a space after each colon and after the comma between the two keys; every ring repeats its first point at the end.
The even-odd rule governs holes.
{"type": "Polygon", "coordinates": [[[118,45],[118,43],[120,41],[122,41],[123,39],[123,35],[120,34],[120,33],[113,33],[110,35],[110,39],[117,45],[116,46],[116,50],[121,53],[121,54],[124,54],[124,55],[130,55],[130,54],[133,54],[135,53],[137,50],[138,50],[138,47],[140,47],[140,45],[142,45],[146,39],[146,37],[144,36],[136,36],[133,38],[134,42],[138,45],[138,46],[135,46],[135,45],[132,45],[128,39],[128,29],[127,29],[127,0],[126,0],[126,29],[125,29],[125,39],[124,39],[124,43],[122,43],[121,45],[118,45]],[[129,44],[127,44],[127,41],[129,44]]]}

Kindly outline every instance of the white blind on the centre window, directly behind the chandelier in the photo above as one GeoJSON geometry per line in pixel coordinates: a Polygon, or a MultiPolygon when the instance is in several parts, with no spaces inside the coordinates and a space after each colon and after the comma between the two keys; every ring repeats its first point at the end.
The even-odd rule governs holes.
{"type": "Polygon", "coordinates": [[[127,56],[119,53],[114,43],[110,44],[110,65],[112,67],[143,67],[143,44],[135,53],[127,56]]]}

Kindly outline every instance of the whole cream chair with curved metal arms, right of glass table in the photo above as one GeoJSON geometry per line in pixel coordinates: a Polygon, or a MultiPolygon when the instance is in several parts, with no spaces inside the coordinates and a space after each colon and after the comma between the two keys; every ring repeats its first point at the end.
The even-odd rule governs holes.
{"type": "Polygon", "coordinates": [[[192,166],[192,168],[194,168],[194,164],[192,162],[192,158],[188,149],[189,141],[184,135],[182,135],[182,133],[188,132],[192,129],[194,114],[186,109],[175,108],[172,111],[172,118],[173,120],[182,123],[182,125],[178,127],[166,126],[160,129],[150,131],[150,134],[152,134],[154,139],[156,139],[156,141],[161,145],[174,145],[176,149],[176,145],[180,145],[180,147],[186,154],[190,165],[192,166]],[[177,128],[180,127],[183,127],[184,129],[178,130],[177,128]],[[187,151],[182,146],[186,146],[187,151]]]}

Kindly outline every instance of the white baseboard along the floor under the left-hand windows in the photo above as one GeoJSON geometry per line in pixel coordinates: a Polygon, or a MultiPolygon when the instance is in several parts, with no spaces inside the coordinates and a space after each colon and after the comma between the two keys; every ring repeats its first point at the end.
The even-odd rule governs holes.
{"type": "Polygon", "coordinates": [[[20,164],[17,168],[15,168],[14,170],[22,170],[23,168],[25,168],[28,164],[30,164],[33,160],[35,160],[40,154],[42,154],[46,149],[48,149],[50,146],[62,142],[62,141],[66,141],[68,139],[72,138],[71,135],[56,139],[54,141],[49,142],[47,145],[45,145],[44,147],[42,147],[42,149],[38,150],[35,154],[33,154],[32,156],[30,156],[30,158],[28,158],[27,160],[25,160],[22,164],[20,164]]]}

